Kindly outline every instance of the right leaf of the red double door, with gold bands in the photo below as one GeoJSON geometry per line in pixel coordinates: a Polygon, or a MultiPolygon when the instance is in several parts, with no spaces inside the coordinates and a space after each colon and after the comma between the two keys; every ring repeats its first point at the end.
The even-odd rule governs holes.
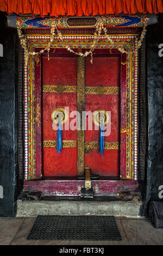
{"type": "Polygon", "coordinates": [[[85,145],[92,144],[90,153],[85,153],[85,166],[89,166],[91,173],[99,176],[118,176],[120,159],[118,150],[120,140],[120,57],[93,57],[93,64],[90,63],[90,58],[86,58],[85,87],[88,88],[88,92],[90,91],[90,94],[85,94],[85,110],[94,112],[102,109],[110,112],[108,120],[110,122],[110,135],[104,136],[103,156],[99,154],[99,148],[96,149],[100,139],[100,129],[85,131],[85,145]]]}

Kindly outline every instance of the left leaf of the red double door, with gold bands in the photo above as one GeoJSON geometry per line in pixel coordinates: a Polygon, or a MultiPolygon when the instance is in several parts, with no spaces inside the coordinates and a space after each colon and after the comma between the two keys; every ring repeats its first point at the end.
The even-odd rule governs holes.
{"type": "Polygon", "coordinates": [[[51,117],[56,108],[77,110],[77,89],[73,93],[62,91],[63,87],[77,87],[77,57],[51,56],[49,61],[43,57],[42,84],[43,176],[77,176],[77,131],[65,131],[63,125],[64,143],[58,154],[57,131],[53,129],[51,117]]]}

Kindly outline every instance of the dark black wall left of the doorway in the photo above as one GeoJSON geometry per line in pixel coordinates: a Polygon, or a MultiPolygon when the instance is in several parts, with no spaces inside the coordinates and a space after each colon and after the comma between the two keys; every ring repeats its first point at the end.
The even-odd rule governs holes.
{"type": "Polygon", "coordinates": [[[3,57],[0,57],[0,216],[14,217],[17,200],[17,32],[5,27],[0,14],[3,57]]]}

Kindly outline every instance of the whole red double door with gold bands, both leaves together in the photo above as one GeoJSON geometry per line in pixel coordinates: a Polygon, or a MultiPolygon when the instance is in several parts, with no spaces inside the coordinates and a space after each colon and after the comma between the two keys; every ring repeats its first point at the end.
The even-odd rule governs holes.
{"type": "Polygon", "coordinates": [[[97,51],[93,64],[90,57],[64,54],[53,54],[50,60],[42,57],[43,176],[82,175],[85,166],[91,168],[92,174],[118,176],[120,81],[120,57],[116,54],[97,51]],[[99,153],[100,124],[96,120],[101,111],[107,126],[103,156],[99,153]],[[55,121],[59,112],[62,112],[61,153],[57,153],[55,121]]]}

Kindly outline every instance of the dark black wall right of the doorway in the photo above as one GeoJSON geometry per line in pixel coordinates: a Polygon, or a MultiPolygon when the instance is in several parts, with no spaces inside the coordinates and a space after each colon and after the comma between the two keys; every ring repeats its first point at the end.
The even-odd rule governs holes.
{"type": "Polygon", "coordinates": [[[140,211],[141,215],[145,216],[148,215],[148,205],[151,200],[162,200],[158,196],[159,186],[163,185],[163,57],[159,57],[159,44],[163,44],[162,31],[161,14],[158,24],[148,26],[146,36],[147,145],[144,197],[140,211]]]}

